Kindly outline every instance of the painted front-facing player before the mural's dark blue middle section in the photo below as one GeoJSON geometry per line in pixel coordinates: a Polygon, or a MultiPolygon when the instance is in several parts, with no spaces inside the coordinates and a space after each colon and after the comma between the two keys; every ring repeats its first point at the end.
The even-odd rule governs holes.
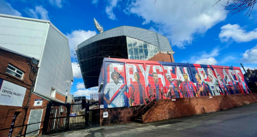
{"type": "Polygon", "coordinates": [[[180,88],[182,88],[184,97],[195,97],[195,85],[188,80],[188,75],[186,73],[183,74],[183,77],[185,81],[180,84],[180,88]]]}

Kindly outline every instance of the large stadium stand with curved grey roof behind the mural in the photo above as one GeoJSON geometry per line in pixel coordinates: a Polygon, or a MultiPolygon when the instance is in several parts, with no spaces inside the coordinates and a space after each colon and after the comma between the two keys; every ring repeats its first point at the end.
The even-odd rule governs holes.
{"type": "Polygon", "coordinates": [[[131,26],[115,27],[77,46],[77,59],[86,88],[98,86],[103,58],[174,62],[173,53],[166,37],[131,26]]]}

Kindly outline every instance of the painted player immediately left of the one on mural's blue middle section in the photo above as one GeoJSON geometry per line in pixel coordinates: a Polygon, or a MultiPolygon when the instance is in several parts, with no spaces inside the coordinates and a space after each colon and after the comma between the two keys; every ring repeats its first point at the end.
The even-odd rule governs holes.
{"type": "Polygon", "coordinates": [[[165,74],[166,79],[169,81],[169,84],[165,87],[167,89],[167,97],[171,98],[180,98],[182,96],[182,92],[180,89],[181,81],[178,79],[171,79],[171,75],[169,73],[165,74]]]}

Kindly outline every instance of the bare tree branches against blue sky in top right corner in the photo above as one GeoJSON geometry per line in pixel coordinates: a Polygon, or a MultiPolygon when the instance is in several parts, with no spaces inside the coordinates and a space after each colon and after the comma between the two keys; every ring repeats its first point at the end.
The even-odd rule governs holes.
{"type": "MultiPolygon", "coordinates": [[[[218,0],[217,3],[219,3],[218,0]]],[[[215,5],[217,4],[215,3],[215,5]]],[[[245,15],[249,15],[252,13],[252,10],[254,9],[254,5],[257,3],[257,0],[227,0],[227,4],[223,5],[224,10],[228,10],[229,12],[227,14],[236,14],[238,12],[241,12],[242,10],[248,9],[247,13],[245,15]]],[[[212,5],[214,6],[214,5],[212,5]]]]}

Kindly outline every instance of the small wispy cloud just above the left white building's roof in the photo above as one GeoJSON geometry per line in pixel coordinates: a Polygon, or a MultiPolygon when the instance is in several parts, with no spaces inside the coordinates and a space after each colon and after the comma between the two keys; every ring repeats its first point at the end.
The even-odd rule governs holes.
{"type": "Polygon", "coordinates": [[[42,5],[36,5],[35,10],[31,8],[26,8],[25,12],[32,18],[39,18],[42,20],[50,21],[48,12],[47,10],[45,10],[45,8],[42,8],[42,5]]]}

